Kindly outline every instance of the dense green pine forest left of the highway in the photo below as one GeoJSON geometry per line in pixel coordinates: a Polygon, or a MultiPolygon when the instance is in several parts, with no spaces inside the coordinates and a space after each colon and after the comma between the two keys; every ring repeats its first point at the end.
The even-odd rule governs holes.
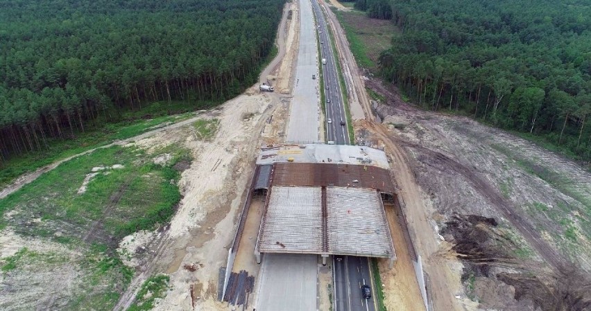
{"type": "Polygon", "coordinates": [[[0,2],[0,165],[154,101],[239,94],[284,0],[0,2]]]}

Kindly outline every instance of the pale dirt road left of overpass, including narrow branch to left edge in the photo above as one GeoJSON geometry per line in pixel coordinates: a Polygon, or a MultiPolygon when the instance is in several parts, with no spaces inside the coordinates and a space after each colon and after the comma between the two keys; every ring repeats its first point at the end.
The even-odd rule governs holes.
{"type": "MultiPolygon", "coordinates": [[[[286,21],[282,21],[281,25],[285,24],[286,21]]],[[[289,33],[293,42],[294,30],[290,29],[289,33]]],[[[279,50],[285,51],[286,42],[278,40],[277,43],[279,50]]],[[[293,55],[293,51],[289,53],[293,55]]],[[[289,77],[284,80],[289,81],[289,77]]],[[[148,152],[173,144],[191,150],[194,156],[191,166],[182,172],[179,187],[184,197],[170,225],[155,232],[135,233],[121,242],[119,251],[130,254],[130,258],[123,256],[123,260],[127,265],[136,267],[137,274],[126,292],[122,293],[115,310],[128,308],[146,278],[157,273],[170,276],[169,292],[166,299],[156,301],[157,310],[225,310],[223,304],[216,300],[218,269],[225,265],[228,256],[227,249],[221,246],[229,245],[232,240],[243,189],[252,170],[252,159],[255,159],[256,150],[262,143],[261,133],[273,137],[280,134],[276,125],[266,126],[266,121],[280,107],[280,114],[273,118],[273,123],[281,123],[280,116],[286,114],[285,106],[278,94],[259,94],[258,85],[255,85],[246,94],[210,112],[110,144],[135,145],[148,152]],[[200,118],[219,120],[219,130],[211,141],[201,140],[191,125],[200,118]],[[189,271],[185,267],[196,269],[189,271]]],[[[93,151],[56,161],[19,177],[14,184],[2,190],[1,197],[15,192],[60,163],[93,151]]],[[[39,247],[35,245],[43,244],[35,238],[28,239],[26,243],[19,239],[15,241],[21,242],[11,246],[7,244],[8,240],[3,239],[3,247],[37,249],[39,247]]],[[[39,277],[42,276],[39,274],[39,277]]],[[[31,283],[40,284],[40,287],[45,284],[31,277],[31,283]]]]}

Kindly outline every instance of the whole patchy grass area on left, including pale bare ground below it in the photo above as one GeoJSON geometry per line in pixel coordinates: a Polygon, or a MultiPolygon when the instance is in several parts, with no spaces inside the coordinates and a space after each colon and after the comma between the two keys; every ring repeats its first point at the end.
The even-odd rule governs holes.
{"type": "Polygon", "coordinates": [[[189,151],[177,145],[152,154],[113,146],[62,163],[2,199],[0,229],[48,248],[22,249],[0,260],[4,281],[19,287],[22,280],[33,278],[40,287],[51,287],[44,276],[67,275],[74,269],[74,281],[55,285],[67,286],[71,293],[66,309],[112,308],[134,274],[115,249],[124,236],[169,222],[181,198],[175,164],[190,159],[189,151]],[[164,153],[169,161],[154,163],[164,153]]]}

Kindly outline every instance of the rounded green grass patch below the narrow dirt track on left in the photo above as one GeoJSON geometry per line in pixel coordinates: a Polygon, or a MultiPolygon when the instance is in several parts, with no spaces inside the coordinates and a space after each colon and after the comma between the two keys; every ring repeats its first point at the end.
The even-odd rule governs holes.
{"type": "MultiPolygon", "coordinates": [[[[179,154],[187,157],[188,152],[178,150],[174,161],[181,159],[179,154]]],[[[168,222],[180,200],[178,187],[170,181],[178,180],[179,173],[171,167],[174,163],[159,166],[151,158],[137,148],[114,146],[62,163],[0,201],[0,213],[17,210],[10,220],[1,220],[0,227],[12,225],[19,234],[63,242],[80,240],[96,221],[105,235],[115,238],[168,222]],[[123,168],[108,168],[114,164],[123,168]],[[85,176],[99,166],[107,169],[78,194],[85,176]],[[18,225],[31,217],[42,221],[18,225]],[[71,226],[60,228],[63,223],[71,226]]]]}

